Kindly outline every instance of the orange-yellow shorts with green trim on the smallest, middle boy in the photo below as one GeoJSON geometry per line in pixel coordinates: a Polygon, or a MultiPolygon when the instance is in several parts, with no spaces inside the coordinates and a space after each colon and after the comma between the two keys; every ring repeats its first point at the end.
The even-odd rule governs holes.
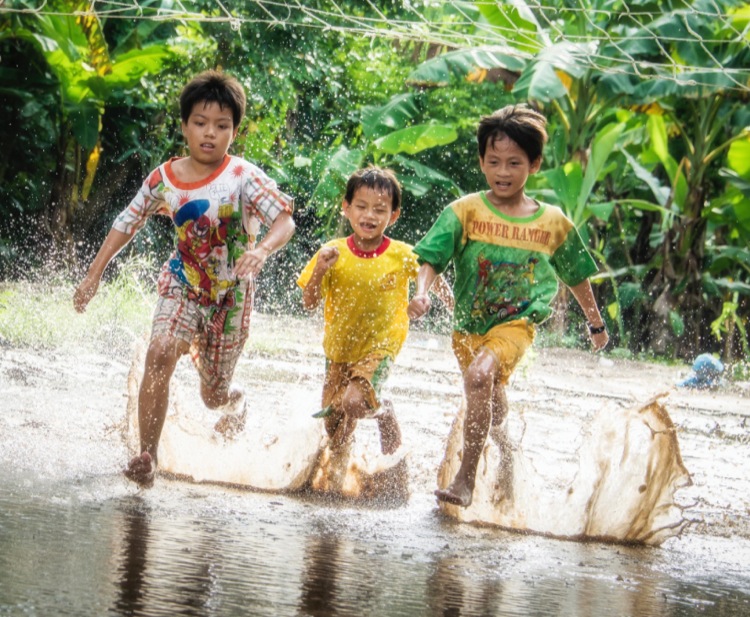
{"type": "Polygon", "coordinates": [[[388,380],[393,366],[389,356],[372,354],[358,362],[344,363],[326,360],[326,378],[323,382],[323,410],[316,418],[341,413],[341,403],[350,383],[356,383],[373,413],[380,408],[380,391],[388,380]]]}

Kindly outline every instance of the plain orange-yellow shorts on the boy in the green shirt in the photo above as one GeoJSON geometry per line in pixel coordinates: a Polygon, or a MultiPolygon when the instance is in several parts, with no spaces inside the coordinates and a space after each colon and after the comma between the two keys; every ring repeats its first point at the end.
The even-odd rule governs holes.
{"type": "Polygon", "coordinates": [[[479,352],[486,349],[500,367],[500,383],[506,384],[513,369],[534,342],[535,335],[536,328],[525,319],[500,324],[486,334],[454,332],[453,353],[461,372],[465,373],[479,352]]]}

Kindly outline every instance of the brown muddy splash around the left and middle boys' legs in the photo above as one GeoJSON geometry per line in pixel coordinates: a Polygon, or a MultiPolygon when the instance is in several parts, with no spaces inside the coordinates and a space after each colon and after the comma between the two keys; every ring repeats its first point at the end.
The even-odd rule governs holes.
{"type": "MultiPolygon", "coordinates": [[[[145,351],[139,346],[128,375],[128,449],[138,453],[138,390],[145,351]]],[[[307,391],[290,389],[283,405],[248,414],[245,430],[225,439],[213,430],[217,416],[173,378],[159,443],[159,471],[191,480],[269,492],[310,490],[349,500],[403,504],[408,500],[408,467],[403,452],[379,453],[372,435],[332,450],[320,420],[307,411],[307,391]],[[290,413],[296,410],[301,413],[290,413]],[[369,439],[368,439],[369,437],[369,439]]],[[[250,406],[253,405],[250,397],[250,406]]]]}

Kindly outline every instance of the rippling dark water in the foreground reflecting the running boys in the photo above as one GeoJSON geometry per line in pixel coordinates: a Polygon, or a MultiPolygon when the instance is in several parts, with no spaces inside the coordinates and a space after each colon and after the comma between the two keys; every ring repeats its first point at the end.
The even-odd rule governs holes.
{"type": "Polygon", "coordinates": [[[746,573],[722,579],[726,551],[699,564],[691,550],[456,525],[432,504],[367,510],[168,481],[26,491],[0,489],[0,615],[750,614],[746,573]]]}

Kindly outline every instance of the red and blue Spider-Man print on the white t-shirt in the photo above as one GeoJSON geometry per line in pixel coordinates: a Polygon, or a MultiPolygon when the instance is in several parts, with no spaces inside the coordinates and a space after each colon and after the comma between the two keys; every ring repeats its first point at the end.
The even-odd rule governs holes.
{"type": "Polygon", "coordinates": [[[185,201],[174,214],[176,252],[170,270],[202,304],[214,303],[227,285],[220,283],[226,260],[227,237],[234,218],[232,204],[220,206],[214,220],[210,201],[185,201]]]}

